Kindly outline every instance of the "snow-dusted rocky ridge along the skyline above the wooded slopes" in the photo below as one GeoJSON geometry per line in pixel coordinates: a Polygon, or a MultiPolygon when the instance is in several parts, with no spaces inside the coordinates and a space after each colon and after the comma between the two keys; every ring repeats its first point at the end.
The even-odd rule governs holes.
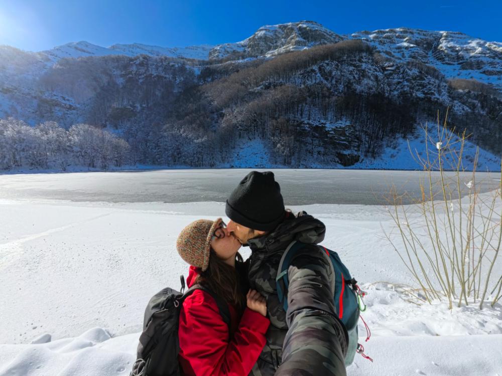
{"type": "Polygon", "coordinates": [[[502,42],[489,42],[451,31],[397,28],[339,35],[313,21],[265,25],[252,36],[234,43],[166,48],[145,44],[115,44],[108,48],[89,42],[71,42],[34,54],[52,63],[62,58],[108,55],[167,56],[197,60],[234,57],[273,57],[313,46],[361,39],[398,61],[429,64],[446,77],[475,78],[502,90],[502,42]]]}

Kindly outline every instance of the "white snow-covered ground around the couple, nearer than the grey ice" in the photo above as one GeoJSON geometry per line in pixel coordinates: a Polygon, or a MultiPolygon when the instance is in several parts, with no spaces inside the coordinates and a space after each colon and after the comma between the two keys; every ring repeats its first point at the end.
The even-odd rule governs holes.
{"type": "MultiPolygon", "coordinates": [[[[339,252],[367,292],[370,340],[362,322],[359,333],[374,362],[357,355],[349,375],[502,375],[502,306],[449,311],[406,301],[398,287],[412,280],[383,237],[381,226],[391,227],[384,207],[292,209],[326,224],[322,244],[339,252]]],[[[219,216],[217,202],[0,198],[0,376],[128,374],[148,299],[179,288],[187,273],[178,233],[219,216]]]]}

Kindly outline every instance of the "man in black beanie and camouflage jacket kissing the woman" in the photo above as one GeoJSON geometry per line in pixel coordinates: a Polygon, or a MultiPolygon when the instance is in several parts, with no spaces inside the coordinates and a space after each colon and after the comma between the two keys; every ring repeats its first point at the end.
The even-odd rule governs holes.
{"type": "Polygon", "coordinates": [[[334,271],[320,247],[299,250],[288,269],[288,310],[279,302],[276,276],[281,256],[297,240],[318,244],[322,222],[284,208],[271,171],[247,174],[226,201],[227,230],[251,248],[249,284],[267,299],[267,343],[250,374],[345,376],[347,333],[334,307],[334,271]]]}

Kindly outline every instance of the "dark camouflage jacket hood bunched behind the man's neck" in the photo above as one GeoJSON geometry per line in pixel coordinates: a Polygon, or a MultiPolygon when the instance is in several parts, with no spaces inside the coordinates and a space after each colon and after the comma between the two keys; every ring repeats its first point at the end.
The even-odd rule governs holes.
{"type": "Polygon", "coordinates": [[[286,219],[271,233],[260,238],[249,239],[247,244],[253,252],[275,252],[284,250],[293,240],[305,244],[319,244],[324,240],[326,226],[308,215],[299,212],[296,216],[288,212],[286,219]]]}

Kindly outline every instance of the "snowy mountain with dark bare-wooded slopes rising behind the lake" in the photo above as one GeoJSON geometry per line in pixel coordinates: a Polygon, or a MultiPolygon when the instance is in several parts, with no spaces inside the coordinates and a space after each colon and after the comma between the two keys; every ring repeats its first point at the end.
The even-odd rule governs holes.
{"type": "Polygon", "coordinates": [[[257,140],[273,164],[356,165],[446,108],[475,144],[502,151],[502,43],[406,28],[339,35],[302,21],[217,46],[0,46],[0,118],[107,127],[153,153],[144,163],[170,163],[173,142],[186,163],[231,129],[232,148],[257,140]]]}

